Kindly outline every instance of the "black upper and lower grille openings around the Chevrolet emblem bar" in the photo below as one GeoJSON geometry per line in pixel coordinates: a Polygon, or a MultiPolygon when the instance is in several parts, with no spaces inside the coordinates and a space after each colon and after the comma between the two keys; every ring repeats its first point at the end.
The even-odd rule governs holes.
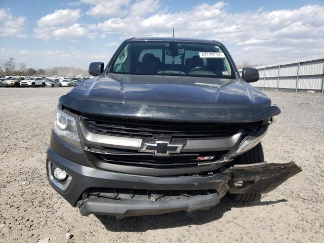
{"type": "MultiPolygon", "coordinates": [[[[134,137],[149,140],[153,137],[165,136],[174,138],[211,138],[231,137],[239,132],[258,129],[260,122],[247,124],[213,124],[183,123],[171,121],[153,121],[126,119],[115,117],[81,117],[88,130],[96,134],[134,137]]],[[[153,169],[186,169],[200,171],[200,166],[211,165],[213,161],[222,159],[228,150],[211,152],[182,152],[168,157],[153,156],[152,153],[138,152],[124,148],[102,147],[85,144],[85,152],[89,161],[96,168],[103,170],[121,170],[119,166],[153,168],[153,169]],[[214,156],[208,160],[197,160],[198,156],[214,156]],[[115,166],[114,166],[115,165],[115,166]],[[199,168],[200,169],[197,169],[199,168]]],[[[217,150],[217,148],[215,148],[217,150]]],[[[220,164],[221,166],[221,164],[220,164]]],[[[216,165],[214,165],[216,168],[216,165]]],[[[128,168],[127,168],[128,169],[128,168]]],[[[149,170],[149,169],[147,169],[149,170]]],[[[167,170],[166,170],[167,171],[167,170]]],[[[169,173],[169,172],[168,172],[169,173]]],[[[177,175],[180,172],[177,172],[177,175]]],[[[163,174],[162,172],[160,174],[163,174]]],[[[185,173],[184,173],[185,174],[185,173]]]]}

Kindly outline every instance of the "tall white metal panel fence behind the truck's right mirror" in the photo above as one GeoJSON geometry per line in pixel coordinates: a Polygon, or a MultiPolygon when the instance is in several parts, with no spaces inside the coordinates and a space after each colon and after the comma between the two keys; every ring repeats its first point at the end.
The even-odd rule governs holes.
{"type": "MultiPolygon", "coordinates": [[[[251,83],[262,89],[316,90],[324,89],[324,55],[255,67],[260,79],[251,83]]],[[[242,70],[239,70],[241,73],[242,70]]]]}

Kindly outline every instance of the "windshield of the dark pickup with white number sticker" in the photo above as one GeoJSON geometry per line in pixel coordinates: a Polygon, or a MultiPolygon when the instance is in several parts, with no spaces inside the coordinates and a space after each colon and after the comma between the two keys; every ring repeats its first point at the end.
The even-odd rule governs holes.
{"type": "Polygon", "coordinates": [[[113,73],[235,78],[220,46],[181,42],[131,42],[117,55],[113,73]]]}

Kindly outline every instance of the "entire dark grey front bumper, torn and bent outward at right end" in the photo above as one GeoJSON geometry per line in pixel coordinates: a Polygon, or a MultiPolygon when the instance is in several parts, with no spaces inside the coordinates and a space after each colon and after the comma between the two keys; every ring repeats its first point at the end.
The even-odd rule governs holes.
{"type": "Polygon", "coordinates": [[[219,203],[221,197],[230,193],[267,193],[301,169],[293,162],[285,164],[234,165],[222,172],[208,176],[156,177],[132,175],[99,170],[91,166],[84,152],[75,149],[52,134],[47,152],[47,175],[51,186],[82,215],[104,214],[118,218],[137,215],[161,214],[174,211],[192,212],[206,210],[219,203]],[[60,187],[51,176],[49,163],[65,170],[69,184],[60,187]],[[99,194],[87,196],[91,188],[117,188],[131,190],[129,199],[117,200],[99,194]],[[132,190],[208,191],[208,195],[170,200],[132,199],[132,190]],[[210,193],[209,190],[212,190],[210,193]],[[214,191],[214,192],[213,192],[214,191]]]}

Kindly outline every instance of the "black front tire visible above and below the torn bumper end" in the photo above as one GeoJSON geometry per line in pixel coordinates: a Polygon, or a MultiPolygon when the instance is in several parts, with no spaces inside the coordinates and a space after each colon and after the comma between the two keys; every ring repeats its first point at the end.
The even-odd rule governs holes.
{"type": "MultiPolygon", "coordinates": [[[[234,159],[234,164],[236,165],[247,165],[247,164],[257,164],[264,162],[264,154],[261,142],[248,152],[237,156],[234,159]]],[[[254,199],[260,198],[260,194],[230,194],[234,201],[252,201],[254,199]]]]}

